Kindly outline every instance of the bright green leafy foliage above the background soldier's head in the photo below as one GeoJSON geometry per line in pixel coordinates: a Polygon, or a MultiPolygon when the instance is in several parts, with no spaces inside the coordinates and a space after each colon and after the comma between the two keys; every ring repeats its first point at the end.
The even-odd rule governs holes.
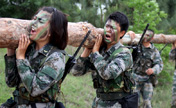
{"type": "Polygon", "coordinates": [[[161,21],[161,18],[166,17],[166,13],[160,11],[156,0],[133,0],[126,3],[132,10],[133,17],[130,17],[130,21],[133,31],[140,33],[143,30],[141,28],[145,28],[149,23],[149,28],[158,33],[156,25],[161,21]]]}

